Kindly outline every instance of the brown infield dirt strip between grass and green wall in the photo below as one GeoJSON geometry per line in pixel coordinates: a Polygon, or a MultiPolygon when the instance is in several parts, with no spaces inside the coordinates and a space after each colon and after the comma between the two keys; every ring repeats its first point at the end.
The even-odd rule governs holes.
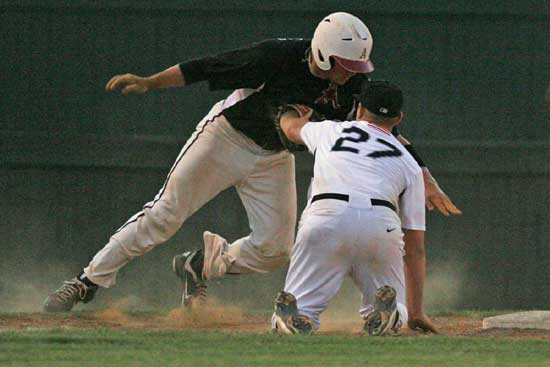
{"type": "MultiPolygon", "coordinates": [[[[451,337],[527,338],[550,340],[549,330],[488,329],[481,327],[482,317],[475,313],[433,317],[442,335],[451,337]]],[[[361,335],[361,320],[356,316],[326,314],[321,319],[319,334],[361,335]]],[[[143,330],[215,330],[224,332],[266,333],[270,330],[269,316],[251,316],[232,306],[207,306],[193,312],[181,308],[170,312],[125,312],[109,308],[91,312],[63,314],[2,314],[0,331],[41,328],[129,328],[143,330]]],[[[409,329],[403,335],[423,335],[409,329]]]]}

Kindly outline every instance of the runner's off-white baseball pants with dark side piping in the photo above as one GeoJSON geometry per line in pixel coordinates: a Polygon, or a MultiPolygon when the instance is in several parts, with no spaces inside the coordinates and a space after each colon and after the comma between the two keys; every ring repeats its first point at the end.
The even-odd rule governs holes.
{"type": "Polygon", "coordinates": [[[229,245],[228,272],[268,272],[288,262],[296,224],[294,156],[266,151],[231,127],[222,115],[226,101],[197,125],[155,199],[118,229],[84,269],[88,279],[111,287],[119,269],[167,241],[195,211],[231,186],[252,232],[229,245]]]}

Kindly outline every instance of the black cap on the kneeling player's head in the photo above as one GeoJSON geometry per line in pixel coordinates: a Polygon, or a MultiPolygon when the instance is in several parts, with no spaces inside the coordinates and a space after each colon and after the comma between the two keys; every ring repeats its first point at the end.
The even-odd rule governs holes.
{"type": "Polygon", "coordinates": [[[375,115],[397,117],[403,107],[403,92],[385,80],[365,80],[359,102],[375,115]]]}

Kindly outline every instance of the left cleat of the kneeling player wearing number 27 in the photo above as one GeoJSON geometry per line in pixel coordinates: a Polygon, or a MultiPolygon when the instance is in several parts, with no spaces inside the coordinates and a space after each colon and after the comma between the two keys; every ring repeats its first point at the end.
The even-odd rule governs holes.
{"type": "Polygon", "coordinates": [[[313,332],[313,323],[309,317],[298,314],[296,298],[291,293],[281,291],[275,299],[271,330],[276,333],[307,335],[313,332]]]}

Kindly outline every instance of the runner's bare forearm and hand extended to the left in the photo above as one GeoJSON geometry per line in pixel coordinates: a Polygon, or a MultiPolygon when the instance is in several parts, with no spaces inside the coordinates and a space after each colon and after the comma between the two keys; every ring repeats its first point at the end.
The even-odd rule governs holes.
{"type": "Polygon", "coordinates": [[[185,78],[179,65],[174,65],[149,77],[134,74],[115,75],[109,80],[105,89],[115,91],[120,89],[122,94],[144,94],[155,89],[183,87],[185,78]]]}

